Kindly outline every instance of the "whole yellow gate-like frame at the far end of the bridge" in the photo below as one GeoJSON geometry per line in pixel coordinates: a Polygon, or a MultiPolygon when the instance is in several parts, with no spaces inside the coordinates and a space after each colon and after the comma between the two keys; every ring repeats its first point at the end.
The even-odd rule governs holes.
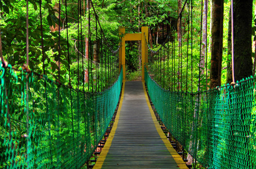
{"type": "Polygon", "coordinates": [[[121,71],[121,67],[123,68],[123,82],[125,82],[125,41],[141,41],[141,49],[142,49],[142,82],[145,81],[145,74],[144,74],[144,65],[147,64],[147,46],[146,37],[148,41],[148,27],[142,26],[142,33],[125,33],[125,27],[119,28],[119,34],[122,36],[121,42],[121,50],[119,51],[119,69],[121,71]]]}

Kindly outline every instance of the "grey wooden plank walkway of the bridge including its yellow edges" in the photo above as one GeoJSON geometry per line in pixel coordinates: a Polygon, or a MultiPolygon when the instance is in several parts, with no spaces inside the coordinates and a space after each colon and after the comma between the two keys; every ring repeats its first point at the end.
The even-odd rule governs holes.
{"type": "Polygon", "coordinates": [[[144,83],[125,82],[123,90],[116,121],[93,168],[187,168],[161,130],[144,83]]]}

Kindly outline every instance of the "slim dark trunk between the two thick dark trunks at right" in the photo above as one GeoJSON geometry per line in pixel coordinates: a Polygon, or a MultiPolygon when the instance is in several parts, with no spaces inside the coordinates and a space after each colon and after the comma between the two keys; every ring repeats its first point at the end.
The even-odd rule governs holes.
{"type": "Polygon", "coordinates": [[[231,8],[229,10],[229,19],[228,19],[228,57],[227,57],[227,81],[226,84],[231,84],[232,82],[232,42],[231,42],[231,8]]]}

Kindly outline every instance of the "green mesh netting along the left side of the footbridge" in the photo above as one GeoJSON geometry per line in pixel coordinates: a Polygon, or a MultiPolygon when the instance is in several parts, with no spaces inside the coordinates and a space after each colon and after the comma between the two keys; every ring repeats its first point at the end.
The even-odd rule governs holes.
{"type": "Polygon", "coordinates": [[[87,93],[11,65],[0,69],[0,168],[82,167],[113,117],[122,73],[108,90],[87,93]]]}

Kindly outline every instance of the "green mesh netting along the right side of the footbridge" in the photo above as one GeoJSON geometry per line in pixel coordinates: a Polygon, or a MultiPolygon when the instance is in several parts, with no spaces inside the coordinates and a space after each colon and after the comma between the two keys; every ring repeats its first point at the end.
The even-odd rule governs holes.
{"type": "Polygon", "coordinates": [[[161,120],[200,164],[256,168],[254,78],[199,94],[163,90],[147,72],[145,80],[161,120]]]}

